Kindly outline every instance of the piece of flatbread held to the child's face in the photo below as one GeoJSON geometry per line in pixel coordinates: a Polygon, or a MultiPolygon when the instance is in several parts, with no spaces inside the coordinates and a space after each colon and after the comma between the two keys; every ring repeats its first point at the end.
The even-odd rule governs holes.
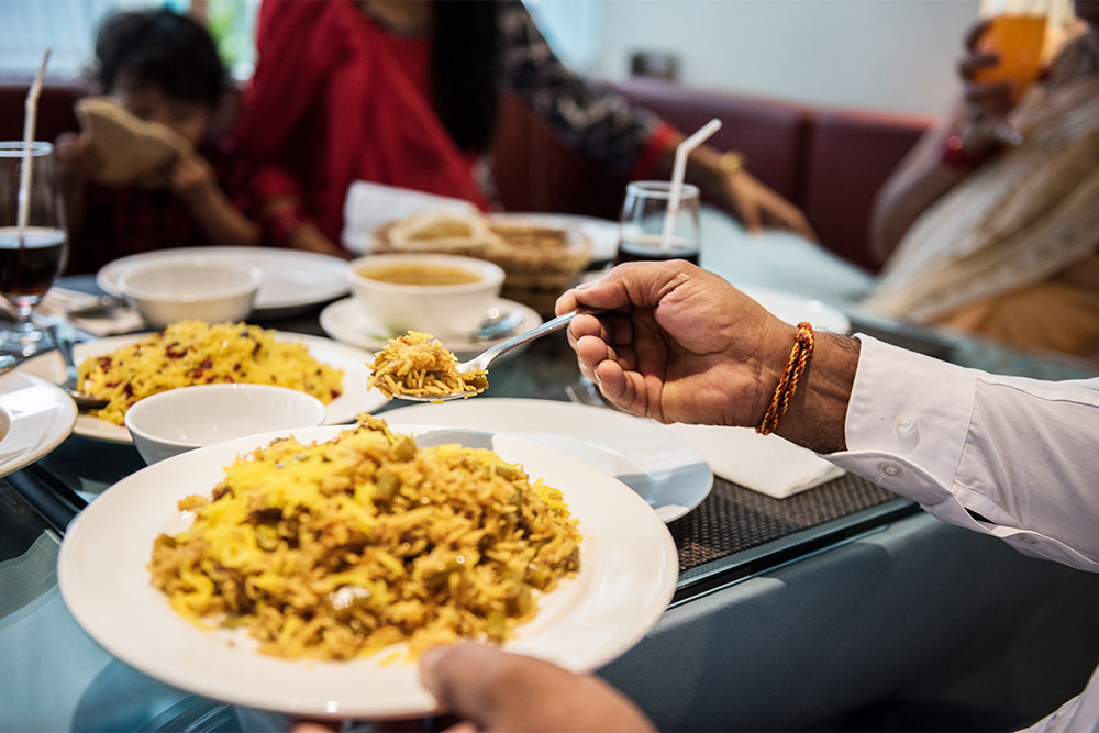
{"type": "Polygon", "coordinates": [[[77,100],[76,115],[101,163],[95,175],[101,184],[129,186],[147,179],[190,147],[174,131],[135,118],[109,97],[77,100]]]}

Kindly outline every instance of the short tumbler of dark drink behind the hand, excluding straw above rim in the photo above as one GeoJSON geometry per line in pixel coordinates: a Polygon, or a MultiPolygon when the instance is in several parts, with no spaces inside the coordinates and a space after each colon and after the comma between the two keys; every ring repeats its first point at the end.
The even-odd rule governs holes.
{"type": "Polygon", "coordinates": [[[665,231],[671,184],[636,180],[625,187],[614,264],[686,259],[698,264],[698,188],[684,184],[679,204],[665,231]]]}

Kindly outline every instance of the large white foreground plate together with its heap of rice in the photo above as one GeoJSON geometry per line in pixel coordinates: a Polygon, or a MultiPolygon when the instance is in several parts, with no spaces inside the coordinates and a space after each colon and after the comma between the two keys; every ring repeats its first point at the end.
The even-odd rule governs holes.
{"type": "Polygon", "coordinates": [[[332,484],[331,467],[341,462],[318,456],[336,448],[311,445],[347,430],[338,426],[292,431],[296,443],[282,441],[263,454],[252,452],[284,435],[230,441],[133,474],[97,498],[66,532],[57,570],[65,602],[111,654],[169,685],[295,715],[374,719],[436,711],[408,652],[412,638],[426,648],[454,636],[448,624],[456,617],[448,604],[462,606],[462,618],[477,633],[507,619],[504,648],[577,671],[615,658],[660,618],[676,585],[676,548],[667,527],[629,487],[514,436],[396,423],[391,429],[417,433],[421,447],[402,456],[407,438],[381,438],[376,429],[341,438],[337,448],[354,445],[358,456],[342,462],[343,470],[366,471],[353,491],[332,484]],[[429,445],[444,447],[422,447],[429,445]],[[460,446],[487,451],[474,455],[460,446]],[[249,459],[234,464],[242,454],[249,459]],[[454,484],[409,478],[401,460],[415,462],[423,476],[444,471],[460,478],[454,484]],[[317,474],[317,467],[329,473],[317,474]],[[387,481],[386,473],[399,478],[387,481]],[[544,485],[534,487],[536,479],[544,485]],[[219,485],[222,490],[214,491],[219,485]],[[190,495],[207,499],[185,503],[191,512],[177,509],[190,495]],[[273,517],[278,501],[286,513],[276,508],[273,517]],[[458,511],[462,502],[482,510],[458,511]],[[248,507],[256,509],[245,511],[248,507]],[[356,523],[369,526],[370,534],[359,534],[356,523]],[[197,531],[206,533],[198,545],[197,531]],[[434,533],[444,533],[447,542],[434,533]],[[163,534],[171,538],[159,538],[163,534]],[[292,545],[280,543],[288,536],[295,537],[292,545]],[[332,537],[342,538],[318,548],[332,537]],[[384,554],[401,560],[377,564],[384,554]],[[304,586],[312,596],[299,590],[306,582],[300,577],[286,577],[288,568],[303,566],[323,568],[304,586]],[[354,579],[375,566],[382,569],[354,579]],[[424,574],[425,568],[432,571],[424,574]],[[536,568],[555,573],[553,580],[540,578],[536,568]],[[523,590],[523,584],[547,590],[523,590]],[[242,596],[237,587],[248,590],[242,596]],[[288,592],[300,603],[282,603],[273,615],[267,599],[288,592]],[[395,601],[393,593],[406,600],[395,601]],[[252,618],[235,626],[203,626],[185,618],[188,610],[210,608],[214,598],[252,618]],[[512,606],[504,598],[521,602],[512,606]],[[289,618],[302,615],[314,625],[289,618]],[[347,635],[341,624],[354,626],[357,635],[347,635]],[[346,660],[325,658],[346,653],[345,644],[388,637],[397,626],[409,641],[346,660]],[[269,646],[262,653],[249,630],[274,644],[276,654],[289,649],[292,658],[273,656],[269,646]],[[323,654],[293,656],[303,649],[323,654]]]}

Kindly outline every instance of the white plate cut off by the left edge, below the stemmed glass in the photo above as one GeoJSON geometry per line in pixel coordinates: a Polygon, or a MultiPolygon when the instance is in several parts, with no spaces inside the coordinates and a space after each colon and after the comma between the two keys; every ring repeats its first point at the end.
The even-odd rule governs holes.
{"type": "Polygon", "coordinates": [[[75,422],[76,404],[56,385],[19,371],[0,377],[0,476],[60,445],[75,422]]]}

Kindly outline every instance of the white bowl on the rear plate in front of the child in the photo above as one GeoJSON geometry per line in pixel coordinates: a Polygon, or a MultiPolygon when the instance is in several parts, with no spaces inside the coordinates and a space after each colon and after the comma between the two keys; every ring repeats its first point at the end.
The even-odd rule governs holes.
{"type": "Polygon", "coordinates": [[[257,267],[197,258],[135,266],[120,276],[119,289],[151,326],[163,329],[187,319],[242,321],[262,280],[257,267]]]}

